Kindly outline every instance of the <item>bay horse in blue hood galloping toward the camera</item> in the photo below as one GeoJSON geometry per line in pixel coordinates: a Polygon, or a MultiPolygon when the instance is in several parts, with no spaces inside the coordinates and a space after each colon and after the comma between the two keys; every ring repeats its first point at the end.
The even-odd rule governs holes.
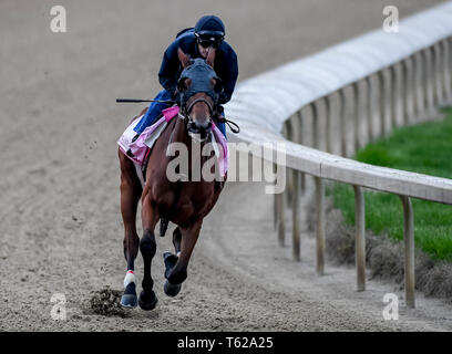
{"type": "MultiPolygon", "coordinates": [[[[151,277],[151,263],[156,252],[154,228],[158,220],[167,226],[167,221],[176,225],[173,232],[175,254],[164,253],[165,284],[164,291],[170,296],[175,296],[182,282],[187,278],[187,267],[193,249],[198,239],[203,219],[215,206],[223,190],[227,175],[222,180],[192,180],[192,160],[196,158],[192,153],[193,144],[205,144],[205,137],[212,136],[212,118],[216,114],[216,98],[222,91],[220,79],[216,76],[214,66],[215,50],[212,50],[204,61],[192,61],[188,55],[178,49],[178,59],[183,72],[177,82],[177,91],[182,100],[179,115],[168,122],[165,131],[152,147],[145,174],[145,185],[136,175],[133,162],[119,149],[121,166],[121,214],[124,222],[124,257],[127,262],[127,272],[124,279],[124,294],[121,304],[125,308],[135,308],[140,304],[143,310],[153,310],[157,304],[157,296],[153,291],[154,281],[151,277]],[[202,63],[199,63],[202,61],[202,63]],[[196,71],[192,66],[196,62],[203,70],[196,71]],[[203,65],[205,67],[203,67],[203,65]],[[192,74],[187,74],[192,70],[192,74]],[[195,74],[193,74],[195,72],[195,74]],[[207,73],[208,75],[204,75],[207,73]],[[208,90],[197,92],[199,87],[209,85],[208,90]],[[199,140],[199,137],[202,139],[199,140]],[[188,150],[188,180],[181,178],[171,181],[166,169],[175,158],[168,156],[168,146],[173,143],[185,144],[188,150]],[[142,200],[143,236],[140,239],[136,232],[137,204],[142,200]],[[140,298],[136,295],[136,278],[134,274],[134,260],[138,249],[143,256],[144,273],[140,298]]],[[[143,111],[144,112],[144,111],[143,111]]],[[[201,166],[206,157],[202,159],[201,166]]],[[[186,176],[185,176],[186,177],[186,176]]],[[[165,227],[164,227],[165,228],[165,227]]],[[[165,230],[163,231],[163,233],[165,230]]],[[[161,232],[161,236],[162,235],[161,232]]]]}

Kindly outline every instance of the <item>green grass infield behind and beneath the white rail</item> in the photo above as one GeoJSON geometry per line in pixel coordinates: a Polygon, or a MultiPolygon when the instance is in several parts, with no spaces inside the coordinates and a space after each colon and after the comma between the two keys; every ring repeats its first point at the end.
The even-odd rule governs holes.
{"type": "MultiPolygon", "coordinates": [[[[378,166],[452,178],[452,107],[443,122],[428,122],[394,129],[384,138],[359,150],[355,159],[378,166]]],[[[355,225],[351,186],[333,184],[327,189],[348,225],[355,225]]],[[[366,227],[376,235],[403,239],[403,209],[398,196],[366,191],[366,227]]],[[[452,206],[411,199],[417,248],[433,260],[452,261],[452,206]]]]}

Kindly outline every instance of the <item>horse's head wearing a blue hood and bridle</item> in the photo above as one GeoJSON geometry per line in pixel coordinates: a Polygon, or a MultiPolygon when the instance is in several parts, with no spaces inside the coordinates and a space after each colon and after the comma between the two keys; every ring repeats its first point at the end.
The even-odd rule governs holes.
{"type": "Polygon", "coordinates": [[[214,71],[215,50],[210,50],[205,61],[191,60],[181,49],[178,58],[184,67],[177,82],[181,114],[186,121],[188,134],[204,140],[212,132],[212,118],[223,91],[223,82],[214,71]]]}

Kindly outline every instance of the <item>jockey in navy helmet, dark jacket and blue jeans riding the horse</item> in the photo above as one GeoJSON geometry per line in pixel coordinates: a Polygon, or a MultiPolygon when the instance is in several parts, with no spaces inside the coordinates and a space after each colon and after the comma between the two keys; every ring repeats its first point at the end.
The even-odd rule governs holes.
{"type": "MultiPolygon", "coordinates": [[[[230,100],[237,76],[238,64],[237,55],[230,45],[224,41],[225,27],[223,21],[216,15],[202,17],[195,28],[188,28],[177,33],[176,40],[166,49],[162,65],[158,72],[158,81],[164,87],[154,100],[178,101],[177,79],[183,70],[178,60],[177,49],[181,48],[191,59],[206,59],[210,50],[216,50],[214,69],[216,74],[224,83],[224,91],[219,95],[218,104],[225,104],[230,100]]],[[[153,102],[147,112],[141,118],[134,131],[136,139],[143,131],[153,124],[162,114],[162,110],[167,105],[161,102],[153,102]]],[[[218,112],[220,113],[220,112],[218,112]]],[[[216,122],[216,125],[226,136],[225,123],[216,122]]]]}

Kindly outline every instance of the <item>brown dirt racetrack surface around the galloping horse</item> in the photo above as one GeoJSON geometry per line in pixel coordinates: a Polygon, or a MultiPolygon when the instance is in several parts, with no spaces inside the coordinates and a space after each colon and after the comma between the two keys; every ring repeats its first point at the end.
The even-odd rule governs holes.
{"type": "MultiPolygon", "coordinates": [[[[392,0],[407,15],[433,0],[392,0]]],[[[271,199],[259,184],[229,184],[195,249],[181,295],[163,293],[158,240],[153,275],[160,303],[102,316],[92,291],[121,289],[125,271],[115,140],[152,96],[165,45],[204,13],[219,14],[237,49],[240,80],[381,25],[383,1],[60,1],[68,33],[49,29],[53,1],[0,4],[0,330],[12,331],[415,331],[451,330],[452,308],[419,296],[400,320],[382,319],[393,284],[355,292],[352,269],[314,271],[314,240],[302,261],[278,248],[271,199]],[[93,3],[92,3],[93,2],[93,3]],[[333,15],[332,15],[333,14],[333,15]],[[250,212],[251,210],[251,212],[250,212]],[[64,293],[68,320],[51,320],[64,293]]],[[[306,202],[306,200],[305,200],[306,202]]],[[[136,264],[141,278],[142,261],[136,264]]]]}

